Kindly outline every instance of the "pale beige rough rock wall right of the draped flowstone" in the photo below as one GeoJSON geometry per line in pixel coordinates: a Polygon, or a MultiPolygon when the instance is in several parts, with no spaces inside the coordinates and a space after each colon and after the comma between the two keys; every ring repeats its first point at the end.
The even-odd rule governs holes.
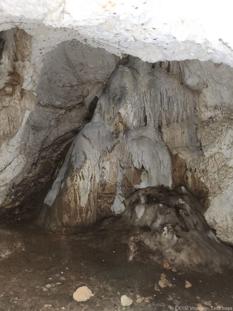
{"type": "MultiPolygon", "coordinates": [[[[167,138],[176,132],[176,123],[171,129],[162,128],[163,139],[172,152],[171,158],[176,157],[173,160],[174,185],[182,184],[203,199],[208,224],[223,241],[232,243],[233,69],[224,64],[197,60],[180,62],[178,67],[175,62],[170,66],[179,81],[198,94],[195,131],[199,150],[194,150],[193,143],[187,144],[187,133],[182,137],[183,143],[179,143],[177,137],[167,138]]],[[[164,67],[167,68],[167,64],[164,63],[164,67]]]]}

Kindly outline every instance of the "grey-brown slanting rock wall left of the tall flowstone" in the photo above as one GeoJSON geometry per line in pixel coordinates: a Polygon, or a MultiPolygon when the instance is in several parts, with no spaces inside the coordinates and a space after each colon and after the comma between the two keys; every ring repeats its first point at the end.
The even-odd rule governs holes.
{"type": "Polygon", "coordinates": [[[76,40],[64,42],[43,59],[35,93],[24,89],[29,66],[30,72],[37,66],[32,38],[18,29],[1,36],[0,213],[18,213],[43,201],[72,140],[92,118],[117,58],[76,40]]]}

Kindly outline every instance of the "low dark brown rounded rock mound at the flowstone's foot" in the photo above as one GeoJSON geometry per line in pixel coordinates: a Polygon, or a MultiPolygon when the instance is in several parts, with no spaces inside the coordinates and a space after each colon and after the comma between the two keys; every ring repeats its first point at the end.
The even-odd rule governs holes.
{"type": "Polygon", "coordinates": [[[185,187],[144,188],[125,203],[123,218],[136,226],[129,248],[141,241],[156,261],[171,267],[220,271],[232,266],[232,248],[216,237],[202,214],[202,204],[185,187]]]}

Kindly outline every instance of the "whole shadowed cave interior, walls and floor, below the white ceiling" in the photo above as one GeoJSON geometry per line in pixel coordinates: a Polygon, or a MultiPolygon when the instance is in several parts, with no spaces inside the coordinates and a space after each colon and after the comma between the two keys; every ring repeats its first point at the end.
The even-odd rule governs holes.
{"type": "Polygon", "coordinates": [[[0,37],[0,310],[232,308],[232,67],[0,37]]]}

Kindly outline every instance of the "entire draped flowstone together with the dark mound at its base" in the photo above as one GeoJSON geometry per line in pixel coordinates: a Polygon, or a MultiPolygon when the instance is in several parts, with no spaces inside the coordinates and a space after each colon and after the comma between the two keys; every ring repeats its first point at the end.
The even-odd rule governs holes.
{"type": "MultiPolygon", "coordinates": [[[[130,260],[141,243],[154,260],[171,267],[231,266],[232,249],[203,216],[208,188],[199,170],[200,97],[184,83],[177,63],[121,60],[92,120],[73,141],[38,223],[75,230],[122,214],[103,227],[112,227],[129,245],[130,260]],[[177,184],[196,196],[184,186],[170,190],[177,184]]],[[[111,230],[107,235],[115,237],[111,230]]]]}

